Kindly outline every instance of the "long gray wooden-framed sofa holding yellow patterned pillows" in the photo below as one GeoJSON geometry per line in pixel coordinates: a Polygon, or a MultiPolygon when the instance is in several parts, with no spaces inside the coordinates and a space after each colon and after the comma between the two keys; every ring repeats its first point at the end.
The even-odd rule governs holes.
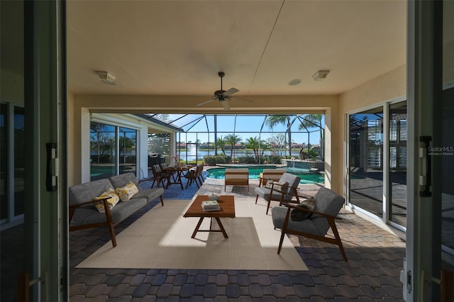
{"type": "Polygon", "coordinates": [[[114,226],[158,197],[161,200],[162,206],[164,206],[162,194],[164,194],[164,189],[162,188],[143,190],[133,173],[121,174],[109,177],[109,179],[99,179],[85,184],[71,186],[69,189],[70,231],[106,226],[109,228],[112,245],[116,247],[114,226]],[[104,200],[106,213],[99,213],[94,206],[98,201],[93,201],[93,198],[100,196],[108,189],[120,188],[128,184],[129,181],[132,181],[137,186],[139,190],[138,194],[135,194],[129,201],[118,202],[111,210],[109,210],[104,200]]]}

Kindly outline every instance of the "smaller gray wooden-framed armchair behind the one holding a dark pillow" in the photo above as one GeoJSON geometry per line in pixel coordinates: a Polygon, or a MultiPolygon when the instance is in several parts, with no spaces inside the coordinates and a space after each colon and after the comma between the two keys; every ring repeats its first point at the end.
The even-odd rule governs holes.
{"type": "Polygon", "coordinates": [[[292,201],[292,198],[296,197],[297,202],[299,202],[299,196],[297,193],[299,181],[301,181],[301,178],[297,177],[297,175],[284,173],[282,174],[282,177],[279,179],[279,182],[278,183],[273,182],[270,188],[267,188],[266,186],[261,186],[254,189],[255,194],[257,194],[257,196],[255,197],[255,203],[257,203],[259,196],[265,199],[268,202],[267,205],[268,214],[268,211],[270,210],[271,201],[279,201],[279,206],[281,206],[282,202],[292,201]],[[281,185],[285,183],[288,184],[287,187],[281,185]]]}

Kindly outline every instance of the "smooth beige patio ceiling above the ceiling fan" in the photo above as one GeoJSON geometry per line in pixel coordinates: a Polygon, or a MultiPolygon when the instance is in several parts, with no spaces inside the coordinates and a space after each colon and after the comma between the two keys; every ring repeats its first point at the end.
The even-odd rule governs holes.
{"type": "Polygon", "coordinates": [[[67,26],[74,94],[212,95],[218,71],[236,96],[340,94],[406,60],[406,1],[68,1],[67,26]]]}

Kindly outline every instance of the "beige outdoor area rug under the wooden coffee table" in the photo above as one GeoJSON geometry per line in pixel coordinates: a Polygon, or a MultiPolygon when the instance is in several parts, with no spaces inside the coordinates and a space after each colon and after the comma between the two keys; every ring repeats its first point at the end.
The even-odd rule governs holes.
{"type": "MultiPolygon", "coordinates": [[[[183,218],[192,201],[165,200],[107,242],[77,268],[109,269],[252,269],[304,271],[306,264],[287,236],[277,255],[281,232],[255,199],[236,199],[236,218],[221,218],[222,233],[197,233],[199,218],[183,218]]],[[[205,218],[200,230],[209,228],[205,218]]]]}

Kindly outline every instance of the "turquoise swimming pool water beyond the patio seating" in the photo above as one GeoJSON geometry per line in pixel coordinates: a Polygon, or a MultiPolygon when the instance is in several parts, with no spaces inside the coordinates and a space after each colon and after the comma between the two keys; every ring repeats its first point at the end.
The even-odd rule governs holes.
{"type": "MultiPolygon", "coordinates": [[[[238,167],[238,168],[240,168],[240,167],[238,167]]],[[[241,167],[241,168],[244,169],[244,167],[241,167]]],[[[270,167],[266,167],[266,168],[270,169],[270,167]]],[[[229,168],[229,169],[231,169],[231,168],[229,168]]],[[[260,173],[263,172],[263,169],[265,169],[265,168],[248,167],[249,179],[259,179],[260,173]]],[[[206,171],[209,172],[209,175],[208,175],[209,178],[213,178],[213,179],[224,179],[225,178],[226,168],[211,168],[211,169],[207,169],[206,171]]],[[[309,170],[287,168],[287,172],[301,177],[301,181],[299,181],[300,184],[323,184],[325,182],[325,177],[323,176],[323,174],[311,173],[311,172],[309,172],[309,170]]]]}

